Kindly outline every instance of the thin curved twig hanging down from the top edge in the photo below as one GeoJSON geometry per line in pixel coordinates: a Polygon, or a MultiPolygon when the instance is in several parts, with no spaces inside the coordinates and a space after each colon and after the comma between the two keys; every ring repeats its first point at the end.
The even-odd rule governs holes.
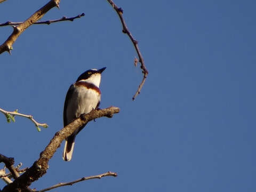
{"type": "Polygon", "coordinates": [[[123,33],[127,34],[130,37],[130,39],[131,39],[131,41],[132,41],[132,43],[133,43],[133,45],[135,47],[135,50],[136,50],[136,52],[137,52],[137,54],[139,56],[139,62],[141,63],[140,68],[142,69],[142,73],[144,74],[142,82],[140,83],[140,85],[138,87],[138,90],[136,91],[136,93],[132,97],[132,100],[134,100],[135,97],[137,97],[137,95],[140,94],[142,86],[144,85],[144,83],[146,81],[146,78],[148,76],[148,70],[146,68],[146,65],[145,65],[145,62],[143,60],[142,54],[140,53],[140,49],[139,49],[139,46],[138,46],[138,41],[136,41],[133,38],[131,32],[128,30],[128,27],[127,27],[127,25],[126,25],[126,23],[124,21],[124,18],[123,18],[123,12],[124,11],[122,10],[121,7],[118,7],[113,1],[111,1],[111,0],[107,0],[107,1],[110,3],[110,5],[115,9],[116,13],[118,14],[118,16],[119,16],[119,18],[120,18],[120,20],[122,22],[122,25],[123,25],[123,33]]]}

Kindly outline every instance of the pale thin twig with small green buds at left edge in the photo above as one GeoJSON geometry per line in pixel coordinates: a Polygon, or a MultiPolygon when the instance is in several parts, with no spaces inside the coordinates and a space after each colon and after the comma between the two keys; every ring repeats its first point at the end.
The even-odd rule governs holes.
{"type": "Polygon", "coordinates": [[[18,116],[26,117],[26,118],[30,119],[36,125],[38,131],[40,131],[39,126],[44,127],[44,128],[48,127],[48,125],[46,123],[38,123],[33,118],[32,115],[25,115],[25,114],[18,113],[18,109],[16,109],[15,111],[6,111],[6,110],[0,108],[0,112],[2,112],[6,116],[7,122],[11,122],[11,121],[15,122],[14,116],[18,115],[18,116]]]}

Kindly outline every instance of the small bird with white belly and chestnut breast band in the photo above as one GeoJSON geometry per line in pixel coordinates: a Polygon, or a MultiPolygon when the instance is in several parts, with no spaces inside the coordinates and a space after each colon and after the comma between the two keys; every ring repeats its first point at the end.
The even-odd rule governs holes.
{"type": "MultiPolygon", "coordinates": [[[[97,109],[100,105],[101,92],[99,89],[102,69],[90,69],[81,74],[76,82],[69,87],[66,95],[63,121],[64,126],[73,122],[81,114],[90,113],[93,109],[97,109]]],[[[85,126],[85,125],[84,125],[85,126]]],[[[63,151],[63,160],[70,161],[72,158],[76,135],[84,128],[79,127],[71,134],[65,143],[63,151]]]]}

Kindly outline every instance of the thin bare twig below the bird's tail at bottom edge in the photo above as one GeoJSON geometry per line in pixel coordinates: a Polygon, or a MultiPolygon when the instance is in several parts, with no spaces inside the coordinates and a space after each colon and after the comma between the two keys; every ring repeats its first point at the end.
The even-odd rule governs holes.
{"type": "Polygon", "coordinates": [[[113,177],[116,177],[116,176],[117,176],[117,173],[113,173],[113,172],[108,171],[107,173],[102,173],[102,174],[94,175],[94,176],[90,176],[90,177],[83,177],[83,178],[81,178],[81,179],[77,179],[77,180],[71,181],[71,182],[58,183],[57,185],[54,185],[54,186],[52,186],[52,187],[45,188],[45,189],[42,189],[42,190],[39,190],[39,191],[36,191],[36,192],[44,192],[44,191],[47,191],[47,190],[55,189],[55,188],[57,188],[57,187],[62,187],[62,186],[67,186],[67,185],[73,185],[74,183],[77,183],[77,182],[80,182],[80,181],[89,180],[89,179],[101,179],[102,177],[106,177],[106,176],[113,176],[113,177]]]}

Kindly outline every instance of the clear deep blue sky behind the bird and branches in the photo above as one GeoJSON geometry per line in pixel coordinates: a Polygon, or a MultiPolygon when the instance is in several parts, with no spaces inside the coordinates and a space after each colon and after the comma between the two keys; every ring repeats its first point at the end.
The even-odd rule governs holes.
{"type": "MultiPolygon", "coordinates": [[[[45,3],[7,0],[0,22],[26,20],[45,3]]],[[[28,119],[8,124],[1,115],[0,153],[31,166],[63,126],[70,84],[87,69],[107,67],[100,107],[121,112],[87,124],[71,162],[62,160],[62,143],[32,188],[113,171],[118,177],[54,191],[255,191],[255,1],[115,3],[149,70],[141,94],[132,101],[142,74],[108,2],[61,1],[42,21],[85,16],[31,26],[12,55],[0,55],[0,107],[49,124],[37,132],[28,119]]],[[[11,33],[0,28],[1,44],[11,33]]]]}

